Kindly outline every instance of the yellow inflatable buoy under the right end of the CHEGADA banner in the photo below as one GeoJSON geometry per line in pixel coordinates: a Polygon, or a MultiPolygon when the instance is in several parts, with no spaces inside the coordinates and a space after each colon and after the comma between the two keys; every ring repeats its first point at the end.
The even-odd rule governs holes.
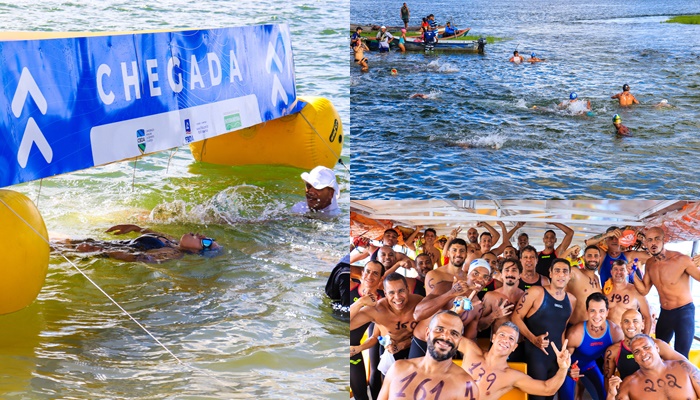
{"type": "Polygon", "coordinates": [[[343,148],[343,124],[330,100],[304,97],[300,113],[190,143],[197,161],[221,165],[276,164],[333,168],[343,148]]]}

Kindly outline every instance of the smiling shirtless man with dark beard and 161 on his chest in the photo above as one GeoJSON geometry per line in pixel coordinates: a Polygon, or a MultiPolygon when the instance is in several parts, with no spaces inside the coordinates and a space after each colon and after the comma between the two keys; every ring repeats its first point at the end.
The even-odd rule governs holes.
{"type": "Polygon", "coordinates": [[[452,362],[462,340],[462,320],[452,311],[442,311],[430,320],[426,329],[428,352],[425,357],[398,360],[384,379],[380,400],[419,398],[475,400],[479,389],[469,374],[452,362]],[[406,396],[406,393],[409,396],[406,396]],[[413,393],[413,397],[410,397],[413,393]],[[432,396],[431,396],[432,398],[432,396]]]}

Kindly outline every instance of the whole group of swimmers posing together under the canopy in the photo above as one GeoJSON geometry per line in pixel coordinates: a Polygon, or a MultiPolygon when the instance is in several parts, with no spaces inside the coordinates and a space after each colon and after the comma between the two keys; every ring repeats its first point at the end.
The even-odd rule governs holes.
{"type": "Polygon", "coordinates": [[[415,258],[394,250],[394,229],[378,246],[355,240],[350,262],[370,257],[350,286],[355,399],[370,398],[366,361],[374,399],[498,399],[514,388],[530,399],[558,393],[569,400],[583,390],[598,400],[700,397],[700,370],[687,360],[695,326],[690,278],[700,280],[700,257],[667,250],[661,228],[638,232],[637,243],[623,248],[622,230],[610,227],[586,240],[579,257],[573,230],[552,224],[565,235],[558,246],[548,230],[543,250],[530,246],[526,233],[516,248],[510,239],[523,224],[507,230],[499,223],[498,247],[492,244],[501,235],[483,222],[477,227],[486,230],[469,229],[467,240],[460,228],[438,238],[417,227],[405,238],[415,258]],[[645,297],[652,286],[658,322],[645,297]],[[383,376],[376,364],[385,352],[395,361],[383,376]],[[527,374],[508,362],[527,363],[527,374]]]}

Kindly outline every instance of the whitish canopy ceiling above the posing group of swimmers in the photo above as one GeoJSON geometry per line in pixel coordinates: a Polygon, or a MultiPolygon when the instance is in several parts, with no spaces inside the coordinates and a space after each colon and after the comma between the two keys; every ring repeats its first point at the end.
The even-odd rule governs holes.
{"type": "Polygon", "coordinates": [[[688,205],[695,204],[677,200],[351,200],[350,210],[399,226],[431,227],[438,235],[449,235],[460,226],[460,237],[466,237],[467,229],[477,228],[479,221],[488,222],[499,232],[497,221],[509,230],[522,221],[525,225],[512,240],[525,232],[531,244],[542,248],[546,230],[553,229],[558,238],[563,237],[552,223],[573,229],[573,243],[583,245],[585,239],[604,233],[610,226],[648,227],[688,205]]]}

